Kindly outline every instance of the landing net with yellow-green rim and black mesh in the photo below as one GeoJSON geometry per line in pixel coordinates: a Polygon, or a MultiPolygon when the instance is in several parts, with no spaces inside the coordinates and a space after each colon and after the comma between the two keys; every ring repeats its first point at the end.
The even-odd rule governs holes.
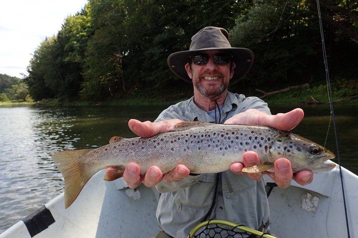
{"type": "Polygon", "coordinates": [[[277,238],[274,235],[264,233],[244,225],[239,225],[226,220],[209,220],[195,226],[189,233],[188,238],[244,238],[264,237],[277,238]]]}

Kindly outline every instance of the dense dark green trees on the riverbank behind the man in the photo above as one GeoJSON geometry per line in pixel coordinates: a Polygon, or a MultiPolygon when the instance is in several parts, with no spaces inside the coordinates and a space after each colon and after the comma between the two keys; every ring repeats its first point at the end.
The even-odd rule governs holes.
{"type": "MultiPolygon", "coordinates": [[[[89,0],[80,13],[65,20],[57,36],[35,51],[25,80],[36,100],[155,97],[158,91],[167,94],[160,97],[180,92],[188,96],[192,86],[171,73],[167,57],[187,50],[190,37],[201,28],[219,26],[230,30],[233,47],[247,47],[255,54],[251,72],[233,81],[233,90],[323,81],[315,3],[89,0]]],[[[357,4],[320,3],[333,73],[356,75],[352,62],[358,53],[357,4]]]]}

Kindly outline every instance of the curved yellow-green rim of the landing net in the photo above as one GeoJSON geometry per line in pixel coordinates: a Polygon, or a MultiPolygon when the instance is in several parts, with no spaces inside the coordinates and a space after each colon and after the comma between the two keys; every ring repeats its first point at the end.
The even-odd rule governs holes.
{"type": "Polygon", "coordinates": [[[263,233],[261,231],[252,229],[250,227],[246,227],[244,225],[239,225],[227,220],[209,220],[209,221],[203,221],[201,223],[199,223],[198,225],[196,225],[189,233],[188,238],[192,238],[195,235],[195,232],[198,231],[201,227],[204,227],[206,225],[211,225],[211,224],[221,224],[221,225],[227,225],[227,226],[231,226],[231,227],[235,227],[238,228],[240,230],[246,231],[248,233],[254,234],[258,237],[264,237],[264,238],[277,238],[276,236],[273,236],[271,234],[266,234],[263,233]]]}

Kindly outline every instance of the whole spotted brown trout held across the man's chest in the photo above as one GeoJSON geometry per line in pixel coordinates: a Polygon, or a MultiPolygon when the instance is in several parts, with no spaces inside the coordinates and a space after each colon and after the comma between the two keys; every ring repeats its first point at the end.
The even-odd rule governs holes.
{"type": "Polygon", "coordinates": [[[174,129],[152,137],[114,137],[96,149],[64,150],[52,158],[64,177],[65,208],[80,194],[87,181],[98,171],[108,169],[105,180],[123,176],[126,165],[135,162],[141,174],[152,165],[163,174],[178,164],[191,173],[218,173],[234,162],[242,162],[246,151],[255,151],[261,165],[245,167],[244,172],[274,171],[273,162],[287,158],[292,170],[326,172],[335,167],[324,163],[335,155],[323,146],[287,131],[266,126],[181,122],[174,129]]]}

